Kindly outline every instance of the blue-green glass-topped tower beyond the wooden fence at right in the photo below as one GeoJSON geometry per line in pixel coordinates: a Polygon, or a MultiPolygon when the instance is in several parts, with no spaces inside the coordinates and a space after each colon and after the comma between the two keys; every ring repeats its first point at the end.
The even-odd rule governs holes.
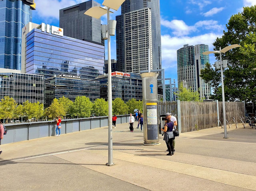
{"type": "Polygon", "coordinates": [[[202,53],[208,51],[208,45],[184,45],[177,50],[178,84],[183,83],[192,91],[199,91],[200,98],[209,99],[211,87],[200,77],[201,69],[209,62],[209,56],[202,53]]]}

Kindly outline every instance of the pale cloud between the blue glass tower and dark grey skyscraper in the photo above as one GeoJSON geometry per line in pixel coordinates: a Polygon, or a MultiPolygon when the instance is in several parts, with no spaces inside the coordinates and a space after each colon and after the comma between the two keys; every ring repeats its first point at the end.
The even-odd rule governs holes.
{"type": "Polygon", "coordinates": [[[81,0],[41,0],[36,1],[36,11],[39,17],[44,19],[54,18],[59,20],[59,10],[78,4],[81,0]]]}

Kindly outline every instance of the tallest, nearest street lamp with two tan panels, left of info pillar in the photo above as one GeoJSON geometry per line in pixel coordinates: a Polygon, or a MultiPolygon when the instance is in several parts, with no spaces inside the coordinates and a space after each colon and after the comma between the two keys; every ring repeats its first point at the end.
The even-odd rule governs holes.
{"type": "Polygon", "coordinates": [[[115,35],[116,21],[109,20],[110,9],[118,10],[125,0],[104,0],[102,7],[92,7],[84,14],[99,19],[104,14],[107,14],[108,24],[102,26],[102,36],[108,39],[108,163],[107,166],[114,165],[113,163],[113,140],[112,140],[112,81],[111,81],[111,58],[110,58],[110,35],[115,35]]]}

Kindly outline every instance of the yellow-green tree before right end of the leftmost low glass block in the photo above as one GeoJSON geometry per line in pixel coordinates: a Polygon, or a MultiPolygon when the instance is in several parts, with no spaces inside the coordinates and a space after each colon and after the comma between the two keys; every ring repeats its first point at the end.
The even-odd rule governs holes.
{"type": "Polygon", "coordinates": [[[36,118],[37,120],[43,116],[44,114],[44,106],[43,104],[30,103],[28,100],[23,103],[24,113],[28,117],[28,119],[36,118]]]}

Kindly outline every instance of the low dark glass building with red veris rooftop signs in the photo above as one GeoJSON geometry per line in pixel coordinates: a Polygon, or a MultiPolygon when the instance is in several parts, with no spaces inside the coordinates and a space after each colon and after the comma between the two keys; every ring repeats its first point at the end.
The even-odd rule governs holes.
{"type": "MultiPolygon", "coordinates": [[[[132,98],[142,100],[142,78],[140,74],[137,73],[129,74],[130,77],[112,75],[113,100],[115,98],[121,98],[124,102],[132,98]]],[[[100,98],[108,100],[108,75],[99,76],[94,81],[100,82],[100,98]]]]}

